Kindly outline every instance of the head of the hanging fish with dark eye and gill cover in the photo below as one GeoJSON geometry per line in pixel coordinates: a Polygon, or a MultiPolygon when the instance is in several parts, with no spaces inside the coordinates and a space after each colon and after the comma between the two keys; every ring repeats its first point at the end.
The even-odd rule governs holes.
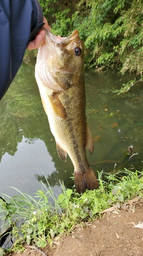
{"type": "Polygon", "coordinates": [[[54,91],[65,91],[77,83],[84,72],[84,44],[77,29],[63,38],[46,30],[36,65],[43,84],[54,91]]]}

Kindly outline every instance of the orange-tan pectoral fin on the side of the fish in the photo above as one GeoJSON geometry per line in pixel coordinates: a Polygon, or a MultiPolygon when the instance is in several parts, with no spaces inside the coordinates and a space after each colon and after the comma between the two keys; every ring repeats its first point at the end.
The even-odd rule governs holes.
{"type": "Polygon", "coordinates": [[[67,118],[66,109],[64,108],[63,104],[59,100],[58,96],[54,93],[48,97],[51,102],[52,108],[54,109],[55,115],[60,116],[60,118],[66,119],[67,118]]]}

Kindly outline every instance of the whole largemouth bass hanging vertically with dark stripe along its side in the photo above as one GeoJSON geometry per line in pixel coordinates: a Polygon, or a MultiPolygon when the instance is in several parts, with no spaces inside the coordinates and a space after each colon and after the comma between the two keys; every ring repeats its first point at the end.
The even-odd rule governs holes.
{"type": "Polygon", "coordinates": [[[77,193],[98,188],[88,163],[86,148],[94,152],[94,140],[86,122],[84,44],[77,29],[68,37],[46,30],[45,43],[38,49],[35,78],[43,108],[54,135],[58,156],[74,165],[77,193]]]}

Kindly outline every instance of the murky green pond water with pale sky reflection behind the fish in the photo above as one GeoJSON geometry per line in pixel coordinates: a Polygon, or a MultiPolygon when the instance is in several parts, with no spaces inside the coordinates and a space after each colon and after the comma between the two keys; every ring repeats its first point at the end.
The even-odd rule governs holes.
{"type": "MultiPolygon", "coordinates": [[[[13,196],[17,191],[33,195],[47,177],[55,194],[63,180],[72,188],[73,164],[57,154],[55,140],[49,129],[34,74],[35,59],[23,62],[13,84],[0,101],[0,194],[13,196]]],[[[86,117],[95,149],[87,152],[89,164],[97,171],[110,172],[121,168],[142,170],[143,161],[143,89],[135,85],[122,97],[111,90],[120,89],[131,76],[117,73],[85,74],[86,117]],[[133,146],[129,159],[128,147],[133,146]]]]}

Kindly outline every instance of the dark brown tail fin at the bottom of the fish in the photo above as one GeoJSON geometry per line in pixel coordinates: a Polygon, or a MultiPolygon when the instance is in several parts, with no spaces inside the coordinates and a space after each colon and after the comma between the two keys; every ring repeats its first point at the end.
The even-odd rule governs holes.
{"type": "Polygon", "coordinates": [[[99,188],[97,177],[91,167],[84,173],[82,171],[74,171],[74,184],[76,186],[76,191],[79,194],[84,193],[86,188],[89,190],[99,188]]]}

